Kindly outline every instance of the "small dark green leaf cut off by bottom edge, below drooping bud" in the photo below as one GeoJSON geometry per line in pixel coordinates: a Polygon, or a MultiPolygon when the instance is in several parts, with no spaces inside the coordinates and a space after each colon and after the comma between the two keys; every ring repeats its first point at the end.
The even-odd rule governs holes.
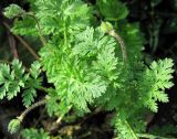
{"type": "Polygon", "coordinates": [[[23,129],[21,135],[23,139],[50,139],[49,133],[45,132],[43,129],[23,129]]]}

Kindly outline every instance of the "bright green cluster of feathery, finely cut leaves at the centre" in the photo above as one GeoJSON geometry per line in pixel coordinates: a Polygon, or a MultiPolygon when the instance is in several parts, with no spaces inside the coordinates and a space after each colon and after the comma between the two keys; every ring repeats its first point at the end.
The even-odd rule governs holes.
{"type": "Polygon", "coordinates": [[[111,72],[115,68],[116,63],[115,42],[104,36],[100,31],[94,31],[93,28],[86,28],[85,31],[75,35],[74,40],[75,44],[70,52],[71,54],[53,50],[53,53],[48,53],[49,46],[46,46],[42,49],[40,55],[49,82],[53,83],[56,90],[61,92],[62,99],[86,110],[86,103],[93,103],[94,98],[100,97],[106,90],[107,85],[102,76],[110,76],[110,79],[114,79],[111,77],[111,72]],[[98,53],[98,51],[101,52],[98,53]],[[50,60],[45,55],[46,53],[51,57],[50,60]],[[55,58],[56,56],[61,58],[55,58]],[[96,58],[97,61],[95,61],[96,58]],[[106,58],[107,61],[105,61],[106,58]],[[98,64],[100,67],[97,67],[98,64]],[[105,71],[102,68],[104,66],[105,71]],[[101,74],[103,75],[101,76],[101,74]]]}

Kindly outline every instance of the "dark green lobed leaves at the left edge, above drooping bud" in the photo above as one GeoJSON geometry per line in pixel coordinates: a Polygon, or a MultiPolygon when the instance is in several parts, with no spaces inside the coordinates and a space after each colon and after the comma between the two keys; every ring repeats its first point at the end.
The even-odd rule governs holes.
{"type": "Polygon", "coordinates": [[[23,88],[22,101],[25,107],[34,101],[37,88],[41,86],[40,64],[34,62],[31,65],[30,74],[25,73],[22,63],[13,60],[11,65],[0,64],[0,98],[7,97],[9,100],[15,97],[23,88]]]}

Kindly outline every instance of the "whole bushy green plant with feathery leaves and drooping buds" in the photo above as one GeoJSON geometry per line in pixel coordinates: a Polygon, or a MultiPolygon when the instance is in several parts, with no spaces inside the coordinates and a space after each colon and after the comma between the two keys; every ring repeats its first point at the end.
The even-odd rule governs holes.
{"type": "MultiPolygon", "coordinates": [[[[126,20],[126,6],[117,0],[97,0],[95,7],[81,0],[29,2],[29,12],[15,4],[4,11],[8,18],[15,18],[13,33],[37,36],[43,45],[30,71],[18,60],[0,64],[0,98],[12,99],[21,93],[27,107],[15,124],[10,122],[9,131],[14,132],[30,110],[45,105],[50,116],[59,117],[56,122],[71,109],[84,116],[100,108],[114,114],[117,138],[155,138],[145,133],[145,115],[148,109],[157,113],[158,101],[168,101],[165,89],[173,86],[174,64],[170,58],[144,64],[144,38],[138,23],[126,20]],[[114,12],[114,6],[119,11],[114,12]],[[41,72],[54,87],[42,86],[41,72]],[[34,103],[37,89],[46,96],[34,103]]],[[[22,135],[37,133],[27,129],[22,135]]],[[[41,133],[49,138],[43,130],[41,133]]]]}

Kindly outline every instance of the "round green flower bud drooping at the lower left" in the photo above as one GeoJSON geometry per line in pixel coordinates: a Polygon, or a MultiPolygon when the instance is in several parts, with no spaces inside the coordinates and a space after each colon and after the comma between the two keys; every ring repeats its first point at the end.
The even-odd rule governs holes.
{"type": "Polygon", "coordinates": [[[19,129],[20,129],[20,120],[19,119],[12,119],[9,122],[8,131],[10,133],[15,133],[19,129]]]}

